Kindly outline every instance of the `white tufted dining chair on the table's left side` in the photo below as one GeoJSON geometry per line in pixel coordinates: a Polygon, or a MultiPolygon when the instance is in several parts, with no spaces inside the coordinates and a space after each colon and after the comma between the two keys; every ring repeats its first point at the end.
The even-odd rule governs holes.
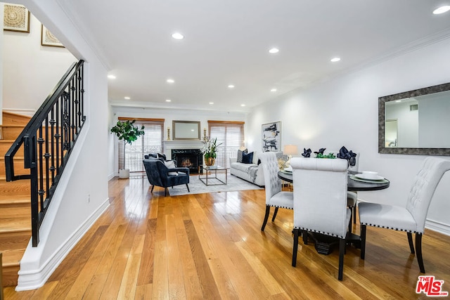
{"type": "Polygon", "coordinates": [[[275,221],[278,208],[294,209],[293,193],[281,190],[281,179],[278,178],[278,159],[275,152],[263,152],[259,155],[262,170],[264,172],[264,184],[266,188],[266,214],[262,222],[261,231],[266,227],[269,219],[270,208],[275,207],[272,222],[275,221]]]}

